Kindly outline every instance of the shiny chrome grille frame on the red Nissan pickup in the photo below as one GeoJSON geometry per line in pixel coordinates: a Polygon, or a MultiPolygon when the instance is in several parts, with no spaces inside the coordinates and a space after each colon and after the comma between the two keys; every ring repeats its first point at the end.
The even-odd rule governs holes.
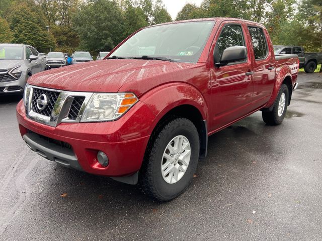
{"type": "Polygon", "coordinates": [[[35,122],[42,123],[47,126],[56,127],[60,123],[79,123],[81,121],[82,114],[86,108],[86,105],[93,93],[91,92],[75,92],[75,91],[64,91],[57,89],[49,89],[43,88],[33,85],[26,85],[26,116],[32,119],[35,122]],[[32,98],[34,96],[34,89],[45,90],[45,91],[53,91],[59,92],[56,102],[54,103],[53,109],[51,111],[50,116],[46,116],[40,113],[33,111],[33,107],[37,108],[37,106],[32,106],[33,102],[32,98]],[[80,106],[78,114],[76,117],[69,118],[70,107],[72,106],[73,100],[77,96],[84,97],[83,104],[80,106]]]}

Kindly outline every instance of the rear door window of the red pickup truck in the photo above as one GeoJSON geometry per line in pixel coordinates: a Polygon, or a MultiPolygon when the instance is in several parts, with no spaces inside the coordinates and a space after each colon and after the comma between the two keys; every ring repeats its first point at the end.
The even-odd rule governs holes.
{"type": "Polygon", "coordinates": [[[255,59],[264,59],[268,53],[268,47],[263,29],[256,27],[248,27],[252,37],[255,59]]]}

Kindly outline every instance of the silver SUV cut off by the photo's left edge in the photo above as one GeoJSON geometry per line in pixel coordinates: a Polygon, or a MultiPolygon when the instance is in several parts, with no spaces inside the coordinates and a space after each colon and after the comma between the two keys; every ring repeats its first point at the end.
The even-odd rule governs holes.
{"type": "Polygon", "coordinates": [[[23,94],[27,79],[45,68],[45,58],[34,47],[0,44],[0,95],[23,94]]]}

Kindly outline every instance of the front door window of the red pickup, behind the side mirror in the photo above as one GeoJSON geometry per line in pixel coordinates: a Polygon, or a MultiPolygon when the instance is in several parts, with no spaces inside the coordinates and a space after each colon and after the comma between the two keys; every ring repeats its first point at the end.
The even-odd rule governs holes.
{"type": "Polygon", "coordinates": [[[226,48],[233,46],[246,46],[240,25],[226,25],[223,27],[215,47],[215,62],[219,63],[222,52],[226,48]]]}

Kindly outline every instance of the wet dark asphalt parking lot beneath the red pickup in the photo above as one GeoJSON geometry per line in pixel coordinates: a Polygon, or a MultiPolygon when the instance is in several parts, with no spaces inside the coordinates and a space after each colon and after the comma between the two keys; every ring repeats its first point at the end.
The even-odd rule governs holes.
{"type": "Polygon", "coordinates": [[[257,112],[209,138],[177,199],[57,166],[20,137],[0,97],[1,240],[321,240],[322,74],[300,73],[286,119],[257,112]]]}

